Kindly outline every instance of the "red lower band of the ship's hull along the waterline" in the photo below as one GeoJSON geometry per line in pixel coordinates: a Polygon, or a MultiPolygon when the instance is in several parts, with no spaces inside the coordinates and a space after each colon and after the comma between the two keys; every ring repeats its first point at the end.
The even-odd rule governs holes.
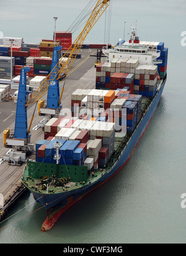
{"type": "MultiPolygon", "coordinates": [[[[156,108],[157,109],[157,108],[156,108]]],[[[156,110],[155,110],[156,111],[156,110]]],[[[155,113],[154,111],[154,113],[155,113]]],[[[153,113],[153,115],[154,115],[153,113]]],[[[151,118],[153,118],[153,115],[151,116],[151,118]]],[[[148,127],[149,123],[150,123],[151,119],[149,120],[148,124],[146,125],[144,131],[146,130],[146,128],[148,127]]],[[[144,133],[143,131],[143,133],[144,133]]],[[[143,136],[143,133],[142,135],[140,136],[139,140],[137,141],[136,143],[136,146],[138,146],[138,143],[139,141],[141,140],[141,137],[143,136]]],[[[135,149],[136,149],[136,146],[135,148],[133,149],[132,153],[130,154],[129,158],[125,161],[125,163],[122,164],[122,166],[120,166],[120,168],[117,169],[117,171],[115,171],[115,173],[113,173],[108,179],[106,179],[105,181],[103,181],[102,183],[100,183],[98,186],[94,187],[93,189],[91,189],[89,192],[93,191],[94,189],[96,189],[97,187],[100,187],[102,186],[103,184],[105,184],[109,179],[111,179],[113,176],[115,176],[115,174],[118,173],[118,171],[120,171],[120,169],[122,169],[125,164],[128,162],[128,160],[131,158],[131,156],[133,155],[135,149]]],[[[58,212],[55,212],[55,214],[53,214],[53,216],[51,216],[50,218],[47,217],[47,219],[45,219],[45,221],[43,222],[42,224],[42,227],[41,227],[41,230],[43,232],[46,232],[46,231],[49,231],[53,225],[55,225],[56,221],[61,217],[61,215],[71,206],[73,206],[73,204],[75,204],[76,202],[78,202],[79,200],[82,199],[82,197],[86,196],[87,194],[89,194],[89,192],[85,193],[84,195],[78,197],[78,199],[74,200],[73,202],[71,202],[70,204],[68,204],[67,206],[64,206],[62,209],[60,209],[58,212]]]]}

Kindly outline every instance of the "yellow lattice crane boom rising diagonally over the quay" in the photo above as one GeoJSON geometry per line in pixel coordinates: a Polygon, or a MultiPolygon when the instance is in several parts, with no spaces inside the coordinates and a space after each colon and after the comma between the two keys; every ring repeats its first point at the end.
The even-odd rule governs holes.
{"type": "MultiPolygon", "coordinates": [[[[77,39],[73,42],[71,47],[66,51],[63,57],[68,58],[65,63],[61,63],[60,61],[56,64],[56,66],[51,70],[50,74],[45,78],[43,83],[38,87],[37,91],[33,93],[30,100],[27,102],[26,106],[38,102],[40,98],[43,97],[45,92],[47,92],[48,87],[53,83],[53,81],[57,78],[60,79],[63,77],[63,74],[68,75],[69,70],[71,69],[71,66],[73,65],[73,62],[76,58],[76,55],[78,54],[79,50],[81,49],[81,46],[86,39],[87,34],[89,34],[89,31],[91,31],[94,24],[98,21],[100,16],[104,13],[104,11],[107,9],[108,4],[110,0],[98,0],[91,16],[89,17],[88,21],[86,22],[86,25],[84,26],[84,29],[82,30],[81,34],[77,37],[77,39]],[[69,50],[72,49],[70,52],[69,50]],[[73,56],[73,58],[72,58],[73,56]],[[52,75],[51,75],[52,74],[52,75]]],[[[63,88],[64,90],[64,88],[63,88]]],[[[62,93],[61,92],[61,97],[62,93]]],[[[61,100],[60,97],[60,100],[61,100]]]]}

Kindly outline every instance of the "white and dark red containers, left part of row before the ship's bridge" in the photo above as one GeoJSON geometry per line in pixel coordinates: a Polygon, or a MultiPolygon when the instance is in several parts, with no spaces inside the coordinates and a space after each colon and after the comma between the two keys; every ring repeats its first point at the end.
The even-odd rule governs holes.
{"type": "Polygon", "coordinates": [[[100,63],[96,67],[96,88],[116,90],[125,86],[133,92],[136,59],[113,59],[112,62],[100,63]]]}

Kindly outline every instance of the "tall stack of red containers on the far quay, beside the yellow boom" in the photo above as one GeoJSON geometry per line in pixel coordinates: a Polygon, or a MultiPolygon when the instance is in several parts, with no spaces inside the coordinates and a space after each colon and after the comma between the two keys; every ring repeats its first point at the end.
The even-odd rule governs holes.
{"type": "MultiPolygon", "coordinates": [[[[55,34],[53,35],[55,37],[55,34]]],[[[60,40],[63,46],[62,50],[68,50],[73,44],[72,42],[72,32],[70,31],[56,31],[56,40],[60,40]]]]}

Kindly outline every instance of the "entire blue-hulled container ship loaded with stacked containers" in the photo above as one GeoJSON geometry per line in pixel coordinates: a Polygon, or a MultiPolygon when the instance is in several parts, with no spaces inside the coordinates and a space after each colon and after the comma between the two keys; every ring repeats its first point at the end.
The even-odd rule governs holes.
{"type": "Polygon", "coordinates": [[[102,49],[95,89],[75,90],[71,115],[51,118],[22,183],[47,210],[42,231],[123,169],[158,106],[167,78],[163,42],[130,40],[102,49]]]}

